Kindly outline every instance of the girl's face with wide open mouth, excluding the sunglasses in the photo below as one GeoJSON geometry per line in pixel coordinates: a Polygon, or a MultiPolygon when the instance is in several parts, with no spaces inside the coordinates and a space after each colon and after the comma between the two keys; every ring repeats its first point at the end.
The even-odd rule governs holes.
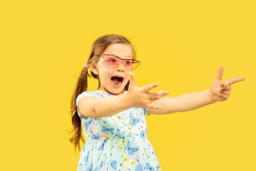
{"type": "MultiPolygon", "coordinates": [[[[103,54],[115,55],[122,59],[132,59],[132,49],[128,44],[111,44],[107,47],[103,54]]],[[[130,71],[126,70],[123,63],[116,68],[109,67],[102,56],[96,65],[95,74],[99,78],[98,90],[105,91],[112,95],[121,95],[122,90],[130,78],[130,71]],[[114,76],[119,76],[122,78],[117,78],[114,76]],[[121,84],[119,82],[121,82],[121,84]]]]}

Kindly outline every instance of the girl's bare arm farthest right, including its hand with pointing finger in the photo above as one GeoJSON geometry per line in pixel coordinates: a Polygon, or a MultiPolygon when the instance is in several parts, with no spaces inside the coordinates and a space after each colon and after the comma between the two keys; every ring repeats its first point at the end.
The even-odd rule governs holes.
{"type": "Polygon", "coordinates": [[[217,101],[224,101],[229,98],[231,84],[245,80],[243,77],[222,80],[223,67],[219,67],[216,79],[211,89],[205,91],[186,93],[177,97],[162,97],[152,102],[162,107],[162,110],[148,109],[151,114],[168,114],[198,109],[217,101]]]}

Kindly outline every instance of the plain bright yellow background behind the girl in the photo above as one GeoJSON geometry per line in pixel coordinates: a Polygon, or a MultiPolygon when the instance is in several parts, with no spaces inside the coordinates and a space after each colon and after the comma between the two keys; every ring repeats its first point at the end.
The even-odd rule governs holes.
{"type": "MultiPolygon", "coordinates": [[[[92,42],[130,38],[139,87],[169,96],[211,87],[218,67],[233,84],[224,102],[146,118],[163,171],[255,171],[253,0],[2,1],[0,170],[74,171],[70,98],[92,42]]],[[[97,88],[89,80],[89,90],[97,88]]]]}

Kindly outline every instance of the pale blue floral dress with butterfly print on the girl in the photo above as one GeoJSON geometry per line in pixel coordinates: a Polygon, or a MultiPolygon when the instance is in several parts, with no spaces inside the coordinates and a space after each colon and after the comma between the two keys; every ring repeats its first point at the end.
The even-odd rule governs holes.
{"type": "MultiPolygon", "coordinates": [[[[77,109],[79,100],[85,96],[115,95],[101,90],[84,91],[76,98],[77,109]]],[[[105,118],[81,118],[79,115],[85,144],[77,171],[161,171],[157,155],[147,139],[145,116],[148,115],[147,108],[135,107],[105,118]]]]}

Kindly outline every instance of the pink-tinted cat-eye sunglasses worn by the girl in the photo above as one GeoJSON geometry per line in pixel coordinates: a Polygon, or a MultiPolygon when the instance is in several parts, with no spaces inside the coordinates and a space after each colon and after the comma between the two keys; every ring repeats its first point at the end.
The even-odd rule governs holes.
{"type": "Polygon", "coordinates": [[[115,56],[111,56],[111,55],[103,55],[103,59],[108,64],[108,66],[110,66],[111,68],[115,68],[123,62],[124,67],[128,71],[131,71],[131,70],[137,68],[140,64],[140,62],[137,62],[135,60],[121,60],[121,59],[119,59],[115,56]]]}

